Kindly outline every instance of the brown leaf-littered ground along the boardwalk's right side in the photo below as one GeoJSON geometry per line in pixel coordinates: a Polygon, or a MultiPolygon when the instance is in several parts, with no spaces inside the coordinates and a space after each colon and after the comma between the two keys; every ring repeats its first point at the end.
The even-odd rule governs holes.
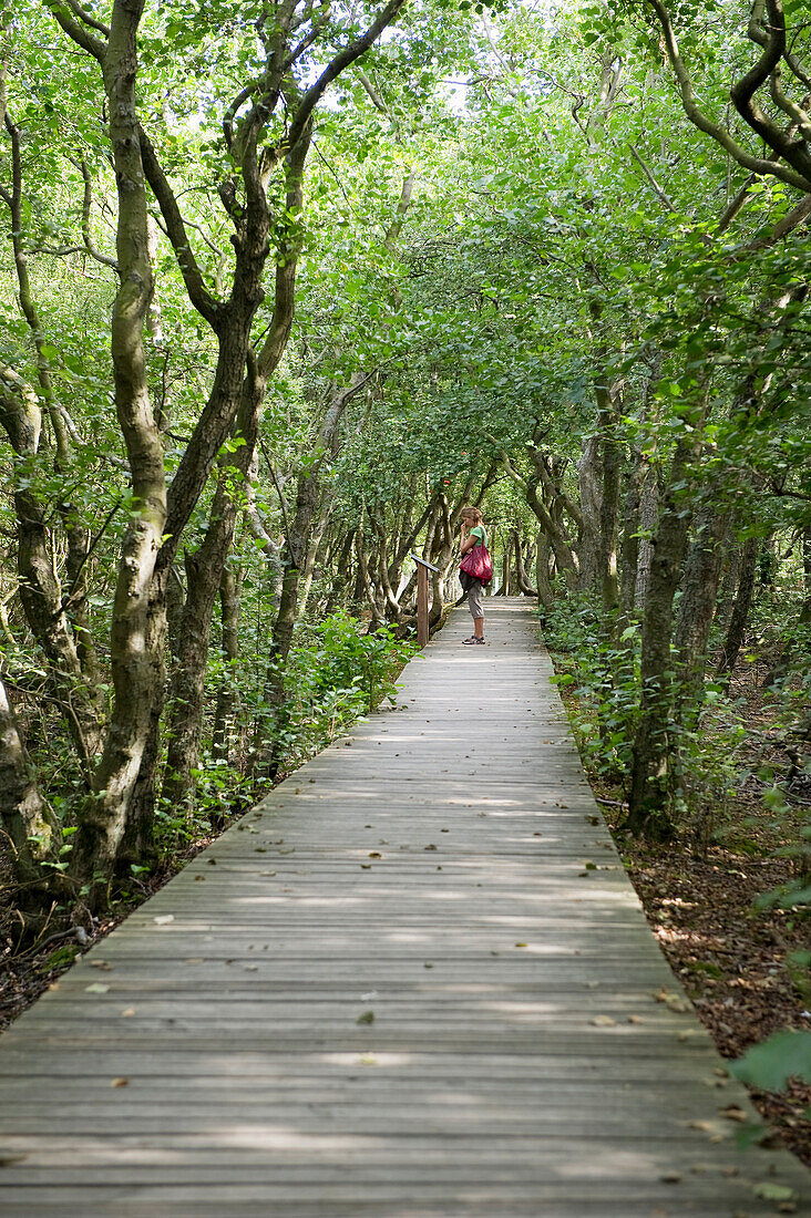
{"type": "MultiPolygon", "coordinates": [[[[762,765],[770,760],[773,725],[756,674],[739,677],[733,692],[745,704],[749,726],[762,732],[757,755],[743,756],[741,767],[748,761],[762,765]]],[[[561,694],[571,709],[574,695],[568,688],[561,694]]],[[[717,840],[651,845],[617,832],[624,816],[622,792],[588,773],[588,764],[585,769],[651,931],[722,1057],[740,1057],[783,1028],[811,1030],[811,974],[787,960],[809,949],[809,920],[756,907],[763,893],[796,876],[795,861],[776,851],[796,849],[801,842],[800,828],[811,816],[809,784],[791,815],[778,818],[763,806],[763,783],[749,778],[727,797],[712,834],[717,840]]],[[[770,1127],[768,1136],[811,1167],[811,1086],[794,1079],[781,1094],[754,1088],[749,1093],[770,1127]]]]}

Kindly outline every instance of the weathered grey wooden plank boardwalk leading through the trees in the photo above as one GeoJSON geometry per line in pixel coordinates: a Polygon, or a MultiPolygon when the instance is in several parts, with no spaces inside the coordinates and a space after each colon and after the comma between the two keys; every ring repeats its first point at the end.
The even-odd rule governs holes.
{"type": "Polygon", "coordinates": [[[744,1093],[679,1010],[532,609],[468,632],[0,1040],[0,1213],[733,1218],[807,1188],[734,1147],[744,1093]]]}

